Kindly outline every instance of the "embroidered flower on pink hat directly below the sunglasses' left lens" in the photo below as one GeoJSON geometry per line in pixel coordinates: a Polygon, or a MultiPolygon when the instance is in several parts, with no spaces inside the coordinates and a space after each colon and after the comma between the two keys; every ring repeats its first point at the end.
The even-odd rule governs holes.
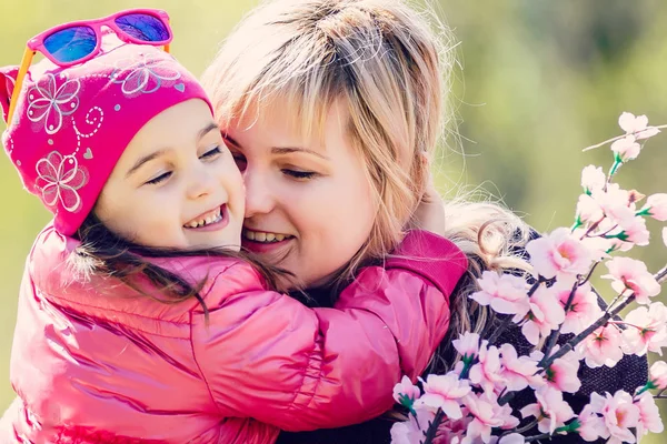
{"type": "MultiPolygon", "coordinates": [[[[61,79],[67,78],[61,75],[61,79]]],[[[47,134],[57,133],[62,127],[62,117],[77,111],[80,89],[79,79],[67,80],[58,87],[53,74],[44,74],[28,92],[28,119],[36,123],[43,120],[47,134]]]]}

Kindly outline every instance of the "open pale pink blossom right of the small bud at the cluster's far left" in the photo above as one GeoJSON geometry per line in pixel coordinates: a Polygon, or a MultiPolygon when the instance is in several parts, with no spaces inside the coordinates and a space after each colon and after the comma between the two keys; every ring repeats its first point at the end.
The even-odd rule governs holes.
{"type": "Polygon", "coordinates": [[[424,395],[415,405],[424,405],[432,410],[441,408],[452,420],[462,417],[460,400],[470,393],[468,381],[459,380],[455,373],[446,375],[429,374],[424,382],[424,395]]]}

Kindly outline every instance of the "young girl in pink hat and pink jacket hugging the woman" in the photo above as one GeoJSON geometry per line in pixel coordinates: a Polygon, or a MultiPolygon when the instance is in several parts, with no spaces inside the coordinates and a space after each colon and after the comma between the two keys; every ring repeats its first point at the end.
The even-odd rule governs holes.
{"type": "Polygon", "coordinates": [[[122,14],[31,40],[58,63],[16,94],[18,70],[1,70],[3,144],[54,219],[26,265],[0,442],[261,444],[388,410],[442,339],[465,256],[414,231],[398,253],[424,261],[364,269],[335,310],[267,290],[269,270],[235,253],[241,175],[168,41],[92,36],[77,59],[122,14]]]}

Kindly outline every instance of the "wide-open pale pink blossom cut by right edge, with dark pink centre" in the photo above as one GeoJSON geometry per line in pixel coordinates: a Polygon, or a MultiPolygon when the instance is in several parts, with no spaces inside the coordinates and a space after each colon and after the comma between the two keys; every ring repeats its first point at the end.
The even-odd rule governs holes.
{"type": "Polygon", "coordinates": [[[625,317],[627,329],[621,333],[623,351],[643,356],[647,351],[663,355],[667,346],[667,306],[655,302],[629,312],[625,317]]]}

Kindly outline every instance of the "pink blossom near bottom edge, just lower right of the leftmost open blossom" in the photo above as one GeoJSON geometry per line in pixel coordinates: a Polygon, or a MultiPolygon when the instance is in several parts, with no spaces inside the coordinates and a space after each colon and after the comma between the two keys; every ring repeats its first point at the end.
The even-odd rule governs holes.
{"type": "Polygon", "coordinates": [[[507,404],[498,405],[498,400],[492,394],[477,396],[469,393],[464,398],[464,404],[474,417],[468,424],[464,444],[478,443],[479,441],[475,441],[478,437],[484,443],[489,443],[494,427],[514,428],[519,425],[519,420],[511,415],[511,407],[507,404]]]}

